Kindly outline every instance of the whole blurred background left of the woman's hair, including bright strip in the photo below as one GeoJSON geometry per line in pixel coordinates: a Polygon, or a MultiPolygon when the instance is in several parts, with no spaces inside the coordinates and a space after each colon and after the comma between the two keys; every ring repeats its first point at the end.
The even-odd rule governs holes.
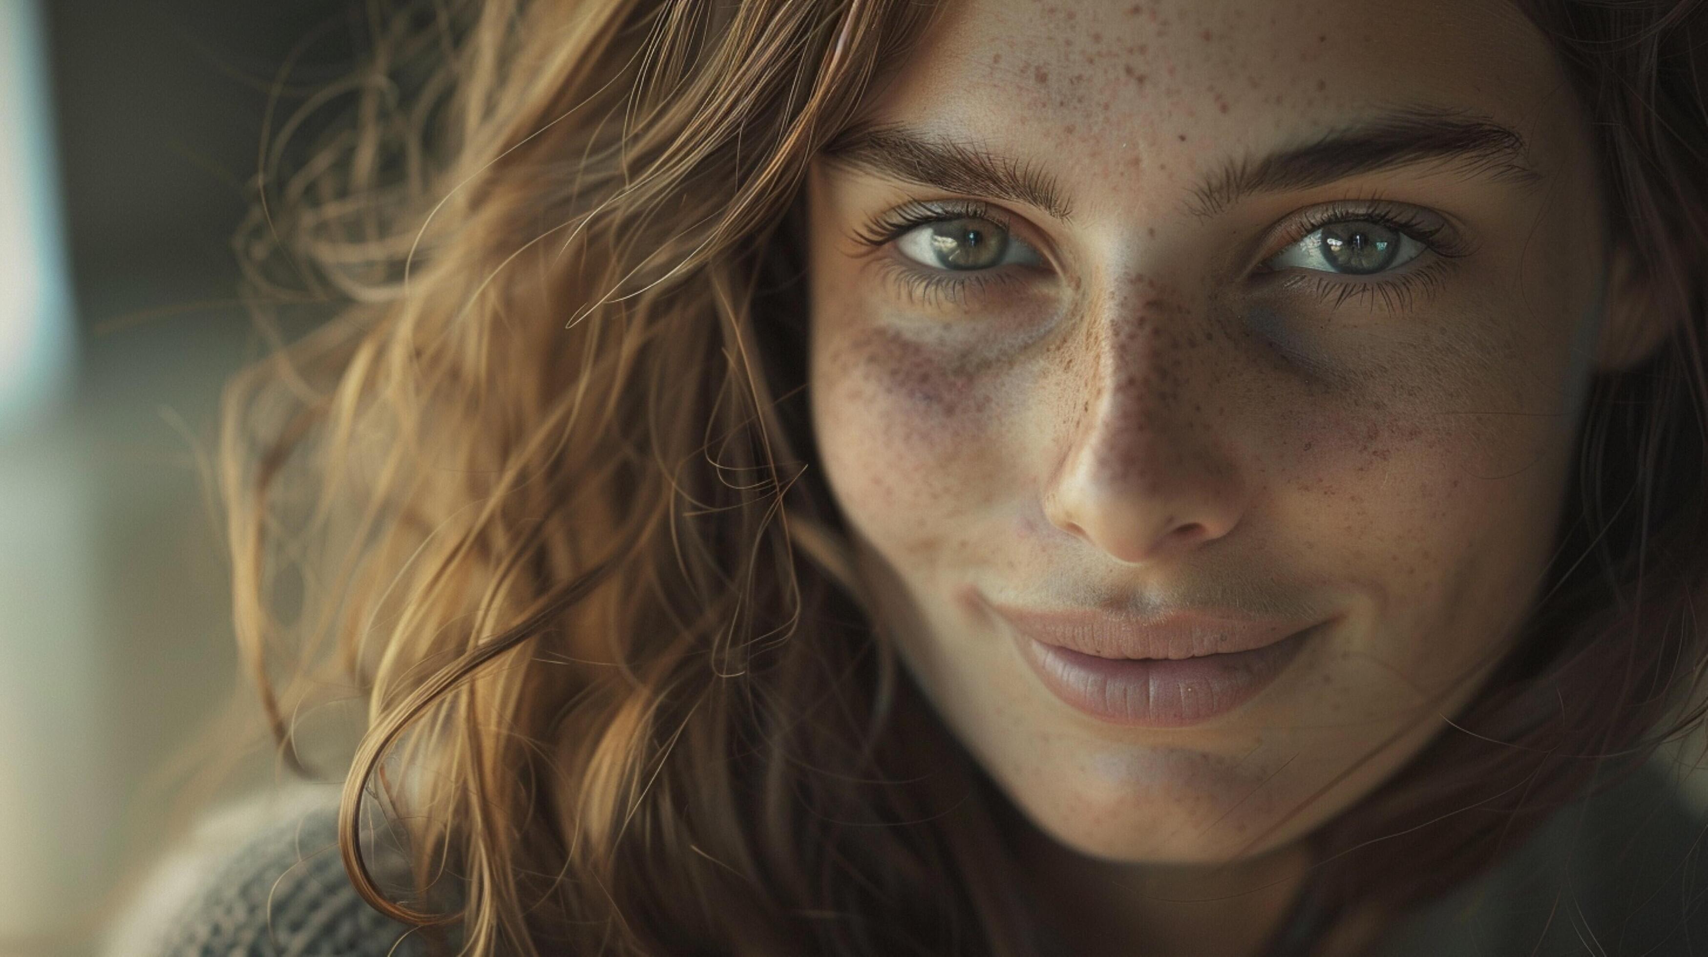
{"type": "Polygon", "coordinates": [[[360,0],[0,0],[0,954],[94,952],[236,680],[202,465],[229,238],[360,0]],[[290,62],[287,73],[282,73],[290,62]]]}

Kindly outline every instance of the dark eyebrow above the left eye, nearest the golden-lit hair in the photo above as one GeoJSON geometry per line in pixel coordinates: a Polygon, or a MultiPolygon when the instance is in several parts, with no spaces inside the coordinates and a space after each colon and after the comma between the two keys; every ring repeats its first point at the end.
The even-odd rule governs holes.
{"type": "Polygon", "coordinates": [[[951,193],[1021,202],[1056,219],[1073,217],[1073,207],[1056,179],[1037,166],[997,156],[979,144],[929,137],[898,123],[856,123],[832,138],[822,154],[878,176],[951,193]]]}

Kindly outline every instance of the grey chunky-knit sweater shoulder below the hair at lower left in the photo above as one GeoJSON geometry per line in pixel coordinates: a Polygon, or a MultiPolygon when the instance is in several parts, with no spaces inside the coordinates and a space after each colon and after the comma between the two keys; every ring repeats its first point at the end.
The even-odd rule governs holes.
{"type": "Polygon", "coordinates": [[[104,957],[418,957],[410,930],[350,884],[338,791],[304,784],[205,819],[113,925],[104,957]]]}

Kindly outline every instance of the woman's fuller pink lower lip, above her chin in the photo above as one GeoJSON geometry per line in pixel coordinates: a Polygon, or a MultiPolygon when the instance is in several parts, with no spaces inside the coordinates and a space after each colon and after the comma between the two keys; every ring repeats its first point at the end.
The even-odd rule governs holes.
{"type": "Polygon", "coordinates": [[[1197,658],[1098,658],[1015,632],[1021,656],[1056,697],[1112,725],[1187,728],[1269,687],[1317,627],[1274,644],[1197,658]]]}

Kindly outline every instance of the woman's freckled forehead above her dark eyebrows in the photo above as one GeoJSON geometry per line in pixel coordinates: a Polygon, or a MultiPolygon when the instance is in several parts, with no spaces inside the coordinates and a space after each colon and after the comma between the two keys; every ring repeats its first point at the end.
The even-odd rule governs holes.
{"type": "Polygon", "coordinates": [[[1119,190],[1418,106],[1512,126],[1544,169],[1582,135],[1506,0],[951,0],[866,118],[1119,190]]]}

